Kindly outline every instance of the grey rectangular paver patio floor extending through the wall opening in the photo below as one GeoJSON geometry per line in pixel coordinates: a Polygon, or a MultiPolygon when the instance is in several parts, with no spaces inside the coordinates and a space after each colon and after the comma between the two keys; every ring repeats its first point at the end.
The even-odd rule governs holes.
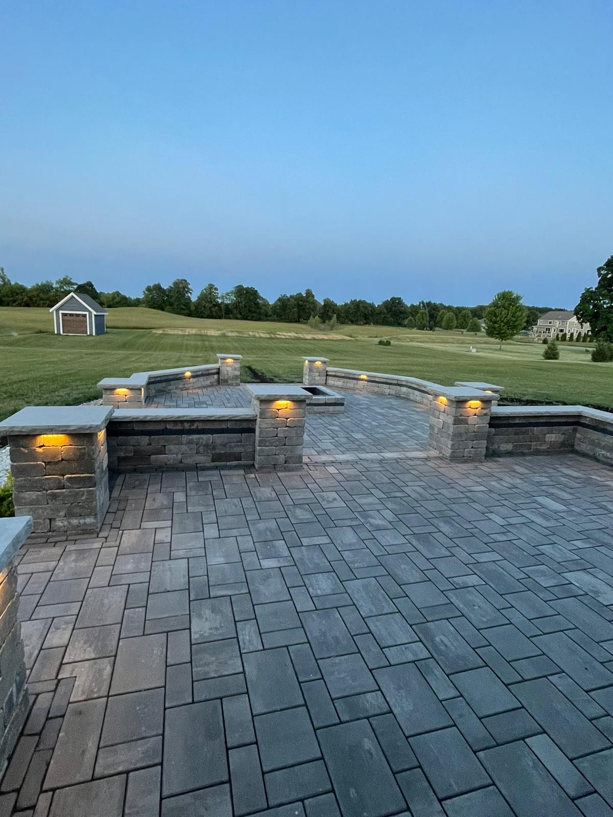
{"type": "Polygon", "coordinates": [[[121,475],[30,539],[0,815],[613,815],[613,471],[426,430],[347,394],[300,471],[121,475]]]}

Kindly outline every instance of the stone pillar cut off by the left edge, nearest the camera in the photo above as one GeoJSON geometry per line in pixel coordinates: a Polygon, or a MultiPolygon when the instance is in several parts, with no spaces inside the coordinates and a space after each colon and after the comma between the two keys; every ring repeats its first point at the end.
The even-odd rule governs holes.
{"type": "Polygon", "coordinates": [[[29,708],[13,556],[31,530],[29,516],[0,519],[0,770],[15,748],[29,708]]]}

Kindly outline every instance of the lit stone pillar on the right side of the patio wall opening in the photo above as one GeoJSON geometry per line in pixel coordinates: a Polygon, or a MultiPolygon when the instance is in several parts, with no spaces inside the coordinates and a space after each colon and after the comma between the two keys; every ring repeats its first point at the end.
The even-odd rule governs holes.
{"type": "Polygon", "coordinates": [[[487,447],[492,395],[450,386],[430,403],[430,448],[451,460],[482,460],[487,447]]]}

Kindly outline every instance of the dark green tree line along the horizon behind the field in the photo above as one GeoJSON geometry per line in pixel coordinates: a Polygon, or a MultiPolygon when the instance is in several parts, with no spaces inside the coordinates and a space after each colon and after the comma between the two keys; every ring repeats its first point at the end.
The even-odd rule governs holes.
{"type": "MultiPolygon", "coordinates": [[[[78,283],[65,275],[52,281],[41,281],[26,287],[11,283],[0,267],[0,306],[46,306],[51,308],[68,292],[83,292],[98,301],[106,309],[118,306],[146,306],[149,309],[172,312],[195,318],[234,318],[238,320],[274,320],[289,324],[311,324],[313,328],[330,331],[339,324],[359,326],[405,326],[424,331],[464,329],[480,332],[481,319],[485,318],[487,306],[453,306],[435,301],[419,301],[407,304],[403,298],[394,296],[375,304],[361,298],[337,303],[331,298],[318,301],[312,289],[304,292],[282,294],[275,301],[267,301],[255,287],[238,284],[229,292],[220,292],[214,283],[208,283],[196,297],[190,282],[177,278],[168,287],[151,283],[141,297],[132,298],[122,292],[101,292],[92,281],[78,283]]],[[[527,306],[524,327],[530,328],[549,306],[527,306]]]]}

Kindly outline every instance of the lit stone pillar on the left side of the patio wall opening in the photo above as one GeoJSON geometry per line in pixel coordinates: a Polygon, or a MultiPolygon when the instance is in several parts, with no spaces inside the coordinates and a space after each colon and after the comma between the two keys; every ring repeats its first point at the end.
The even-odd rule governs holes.
{"type": "Polygon", "coordinates": [[[256,413],[255,467],[302,465],[307,392],[292,383],[247,386],[256,413]]]}

